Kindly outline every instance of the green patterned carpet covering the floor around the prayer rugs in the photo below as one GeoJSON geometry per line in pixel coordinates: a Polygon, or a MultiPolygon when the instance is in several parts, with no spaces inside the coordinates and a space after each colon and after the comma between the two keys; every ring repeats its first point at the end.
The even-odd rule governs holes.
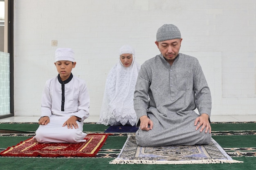
{"type": "MultiPolygon", "coordinates": [[[[35,132],[38,124],[8,124],[0,123],[0,130],[19,130],[25,132],[35,132]]],[[[256,148],[256,123],[218,123],[211,124],[212,137],[222,148],[256,148]],[[237,135],[237,133],[239,135],[237,135]]],[[[108,126],[98,124],[84,124],[84,132],[104,132],[108,126]]],[[[127,139],[126,133],[116,133],[109,136],[105,144],[99,151],[96,158],[26,158],[26,157],[0,157],[0,169],[2,170],[166,170],[166,169],[197,169],[197,170],[241,170],[256,169],[256,155],[238,156],[232,159],[244,161],[244,163],[223,163],[223,164],[191,164],[191,165],[144,165],[144,164],[124,164],[112,165],[112,161],[117,157],[124,142],[127,139]]],[[[0,133],[0,149],[14,146],[20,141],[24,141],[34,133],[0,133]]],[[[253,150],[255,153],[256,150],[253,150]]],[[[228,152],[227,152],[228,153],[228,152]]]]}

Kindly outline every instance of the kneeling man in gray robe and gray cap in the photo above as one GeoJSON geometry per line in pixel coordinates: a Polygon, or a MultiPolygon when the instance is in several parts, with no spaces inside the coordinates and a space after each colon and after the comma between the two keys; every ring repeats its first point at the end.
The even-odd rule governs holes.
{"type": "Polygon", "coordinates": [[[161,54],[141,65],[135,86],[137,144],[209,144],[211,93],[202,68],[195,57],[179,53],[182,38],[177,26],[164,24],[156,37],[161,54]]]}

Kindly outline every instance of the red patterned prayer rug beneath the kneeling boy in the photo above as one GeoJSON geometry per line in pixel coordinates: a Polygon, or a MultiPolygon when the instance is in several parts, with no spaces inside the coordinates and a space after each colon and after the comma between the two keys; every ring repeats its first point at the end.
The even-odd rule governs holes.
{"type": "Polygon", "coordinates": [[[111,134],[88,134],[85,137],[86,142],[78,144],[42,144],[32,137],[21,141],[16,146],[8,147],[0,155],[6,157],[95,157],[108,135],[111,134]]]}

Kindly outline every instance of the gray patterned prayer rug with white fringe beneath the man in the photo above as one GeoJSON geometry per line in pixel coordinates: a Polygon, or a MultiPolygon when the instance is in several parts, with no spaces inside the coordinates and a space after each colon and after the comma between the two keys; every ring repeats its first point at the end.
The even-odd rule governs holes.
{"type": "Polygon", "coordinates": [[[243,163],[233,160],[211,139],[209,145],[140,147],[134,135],[128,138],[116,159],[110,164],[209,164],[243,163]]]}

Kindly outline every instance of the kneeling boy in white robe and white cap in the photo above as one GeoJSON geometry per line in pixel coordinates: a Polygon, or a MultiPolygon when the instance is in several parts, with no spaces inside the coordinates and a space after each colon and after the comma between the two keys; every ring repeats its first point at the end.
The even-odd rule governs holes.
{"type": "Polygon", "coordinates": [[[89,117],[90,104],[87,87],[71,73],[76,66],[72,49],[56,49],[55,59],[59,74],[45,84],[40,126],[34,139],[40,143],[85,142],[83,120],[89,117]]]}

